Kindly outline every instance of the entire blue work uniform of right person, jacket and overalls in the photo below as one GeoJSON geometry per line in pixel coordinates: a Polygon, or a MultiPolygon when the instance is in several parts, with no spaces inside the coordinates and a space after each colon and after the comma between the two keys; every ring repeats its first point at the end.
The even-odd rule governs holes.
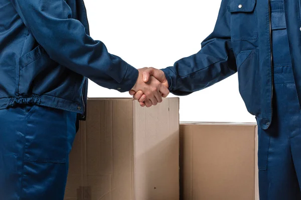
{"type": "Polygon", "coordinates": [[[260,200],[301,199],[300,18],[300,0],[222,0],[202,49],[163,69],[178,95],[238,72],[258,124],[260,200]]]}

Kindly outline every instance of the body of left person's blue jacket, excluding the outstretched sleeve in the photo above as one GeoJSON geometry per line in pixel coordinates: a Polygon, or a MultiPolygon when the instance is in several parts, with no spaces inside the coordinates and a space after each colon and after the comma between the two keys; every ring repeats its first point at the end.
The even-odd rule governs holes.
{"type": "MultiPolygon", "coordinates": [[[[89,33],[83,1],[66,2],[89,33]]],[[[48,56],[10,0],[0,0],[0,18],[0,109],[35,103],[83,113],[85,78],[48,56]]]]}

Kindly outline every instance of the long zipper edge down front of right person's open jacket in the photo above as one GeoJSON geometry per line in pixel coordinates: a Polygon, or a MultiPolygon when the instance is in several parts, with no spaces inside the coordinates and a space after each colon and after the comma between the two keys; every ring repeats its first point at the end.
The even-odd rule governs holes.
{"type": "MultiPolygon", "coordinates": [[[[270,53],[271,53],[271,78],[272,78],[272,88],[271,88],[271,121],[273,117],[273,95],[274,95],[274,66],[273,66],[273,38],[272,38],[272,11],[271,11],[271,0],[268,0],[268,14],[269,14],[269,40],[270,40],[270,53]]],[[[271,124],[267,122],[269,126],[271,124]]]]}

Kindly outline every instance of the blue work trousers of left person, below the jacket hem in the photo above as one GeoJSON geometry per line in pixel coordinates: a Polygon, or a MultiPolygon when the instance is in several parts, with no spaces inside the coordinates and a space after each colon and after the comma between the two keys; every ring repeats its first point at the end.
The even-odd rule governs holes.
{"type": "Polygon", "coordinates": [[[27,106],[0,121],[0,199],[63,199],[76,113],[27,106]]]}

